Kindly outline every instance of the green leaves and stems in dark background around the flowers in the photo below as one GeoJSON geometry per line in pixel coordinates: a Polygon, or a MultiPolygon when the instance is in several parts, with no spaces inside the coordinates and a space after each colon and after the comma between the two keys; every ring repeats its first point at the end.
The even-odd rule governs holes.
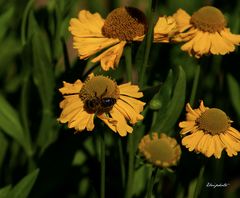
{"type": "MultiPolygon", "coordinates": [[[[232,32],[240,32],[239,2],[208,3],[224,12],[232,32]]],[[[159,16],[172,15],[179,8],[192,14],[206,4],[187,0],[0,0],[0,198],[98,197],[98,135],[102,132],[106,197],[124,197],[128,181],[132,181],[128,195],[145,197],[153,167],[138,153],[139,141],[146,134],[158,132],[175,136],[181,144],[178,123],[184,120],[184,107],[190,100],[194,100],[193,108],[204,100],[210,108],[223,109],[239,130],[239,50],[226,56],[196,59],[181,50],[181,43],[152,42],[159,16]],[[126,5],[140,8],[150,24],[142,42],[125,46],[133,63],[123,53],[118,68],[105,72],[100,63],[91,62],[92,57],[79,60],[68,29],[70,19],[77,18],[83,9],[106,18],[112,9],[126,5]],[[126,60],[132,66],[128,71],[126,60]],[[132,83],[143,92],[140,100],[146,103],[141,113],[144,119],[128,135],[132,148],[130,138],[106,129],[98,118],[94,120],[94,131],[78,134],[67,124],[58,123],[63,99],[58,89],[62,82],[84,81],[92,71],[110,76],[118,84],[129,81],[131,76],[132,83]]],[[[240,197],[239,156],[226,156],[223,151],[218,164],[215,158],[208,159],[207,173],[198,178],[203,156],[182,148],[182,158],[171,173],[162,170],[156,176],[152,197],[194,197],[195,192],[199,197],[240,197]],[[206,188],[208,180],[229,186],[206,188]]]]}

